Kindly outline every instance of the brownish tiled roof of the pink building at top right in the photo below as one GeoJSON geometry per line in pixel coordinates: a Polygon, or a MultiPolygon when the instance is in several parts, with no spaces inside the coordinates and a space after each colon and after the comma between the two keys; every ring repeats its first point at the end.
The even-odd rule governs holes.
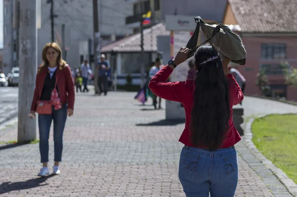
{"type": "Polygon", "coordinates": [[[297,0],[229,0],[243,33],[297,33],[297,0]]]}

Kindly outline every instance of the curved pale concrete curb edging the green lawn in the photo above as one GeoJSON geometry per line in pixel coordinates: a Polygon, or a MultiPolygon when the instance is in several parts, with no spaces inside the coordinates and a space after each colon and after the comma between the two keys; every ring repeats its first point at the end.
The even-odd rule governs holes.
{"type": "MultiPolygon", "coordinates": [[[[281,115],[285,115],[285,114],[286,113],[281,115]]],[[[272,114],[269,114],[269,115],[272,115],[272,114]]],[[[263,118],[266,116],[268,115],[261,115],[256,118],[263,118]]],[[[285,187],[294,197],[297,197],[297,184],[292,179],[290,179],[280,168],[276,167],[269,159],[263,156],[253,144],[251,124],[253,123],[254,119],[255,118],[251,118],[246,123],[246,128],[245,128],[246,147],[257,159],[259,159],[268,169],[270,169],[275,174],[275,176],[285,185],[285,187]]]]}

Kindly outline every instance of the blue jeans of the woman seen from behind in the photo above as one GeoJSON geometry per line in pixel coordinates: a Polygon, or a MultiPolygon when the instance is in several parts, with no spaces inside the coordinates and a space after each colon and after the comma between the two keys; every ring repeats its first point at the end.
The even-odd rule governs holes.
{"type": "Polygon", "coordinates": [[[235,148],[209,151],[185,146],[179,179],[187,197],[234,197],[238,182],[235,148]]]}

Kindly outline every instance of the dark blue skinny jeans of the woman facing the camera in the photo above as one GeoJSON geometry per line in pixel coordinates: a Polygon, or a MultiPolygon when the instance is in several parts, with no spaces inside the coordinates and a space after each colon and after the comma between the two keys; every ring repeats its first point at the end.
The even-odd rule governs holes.
{"type": "Polygon", "coordinates": [[[54,110],[50,115],[38,115],[39,127],[39,151],[41,162],[49,161],[49,129],[53,120],[53,142],[54,142],[54,161],[62,161],[63,150],[63,131],[67,119],[67,104],[63,104],[59,110],[54,110]]]}

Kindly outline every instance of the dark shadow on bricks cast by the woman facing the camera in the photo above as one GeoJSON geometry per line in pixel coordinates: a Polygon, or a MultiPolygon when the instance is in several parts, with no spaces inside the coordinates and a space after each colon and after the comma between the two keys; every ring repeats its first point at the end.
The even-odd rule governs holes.
{"type": "Polygon", "coordinates": [[[35,187],[49,185],[48,183],[41,185],[41,183],[45,182],[48,178],[52,176],[54,175],[49,175],[46,177],[41,177],[36,179],[29,179],[23,182],[14,182],[14,183],[4,182],[0,185],[0,195],[11,191],[26,190],[26,189],[31,189],[35,187]]]}

